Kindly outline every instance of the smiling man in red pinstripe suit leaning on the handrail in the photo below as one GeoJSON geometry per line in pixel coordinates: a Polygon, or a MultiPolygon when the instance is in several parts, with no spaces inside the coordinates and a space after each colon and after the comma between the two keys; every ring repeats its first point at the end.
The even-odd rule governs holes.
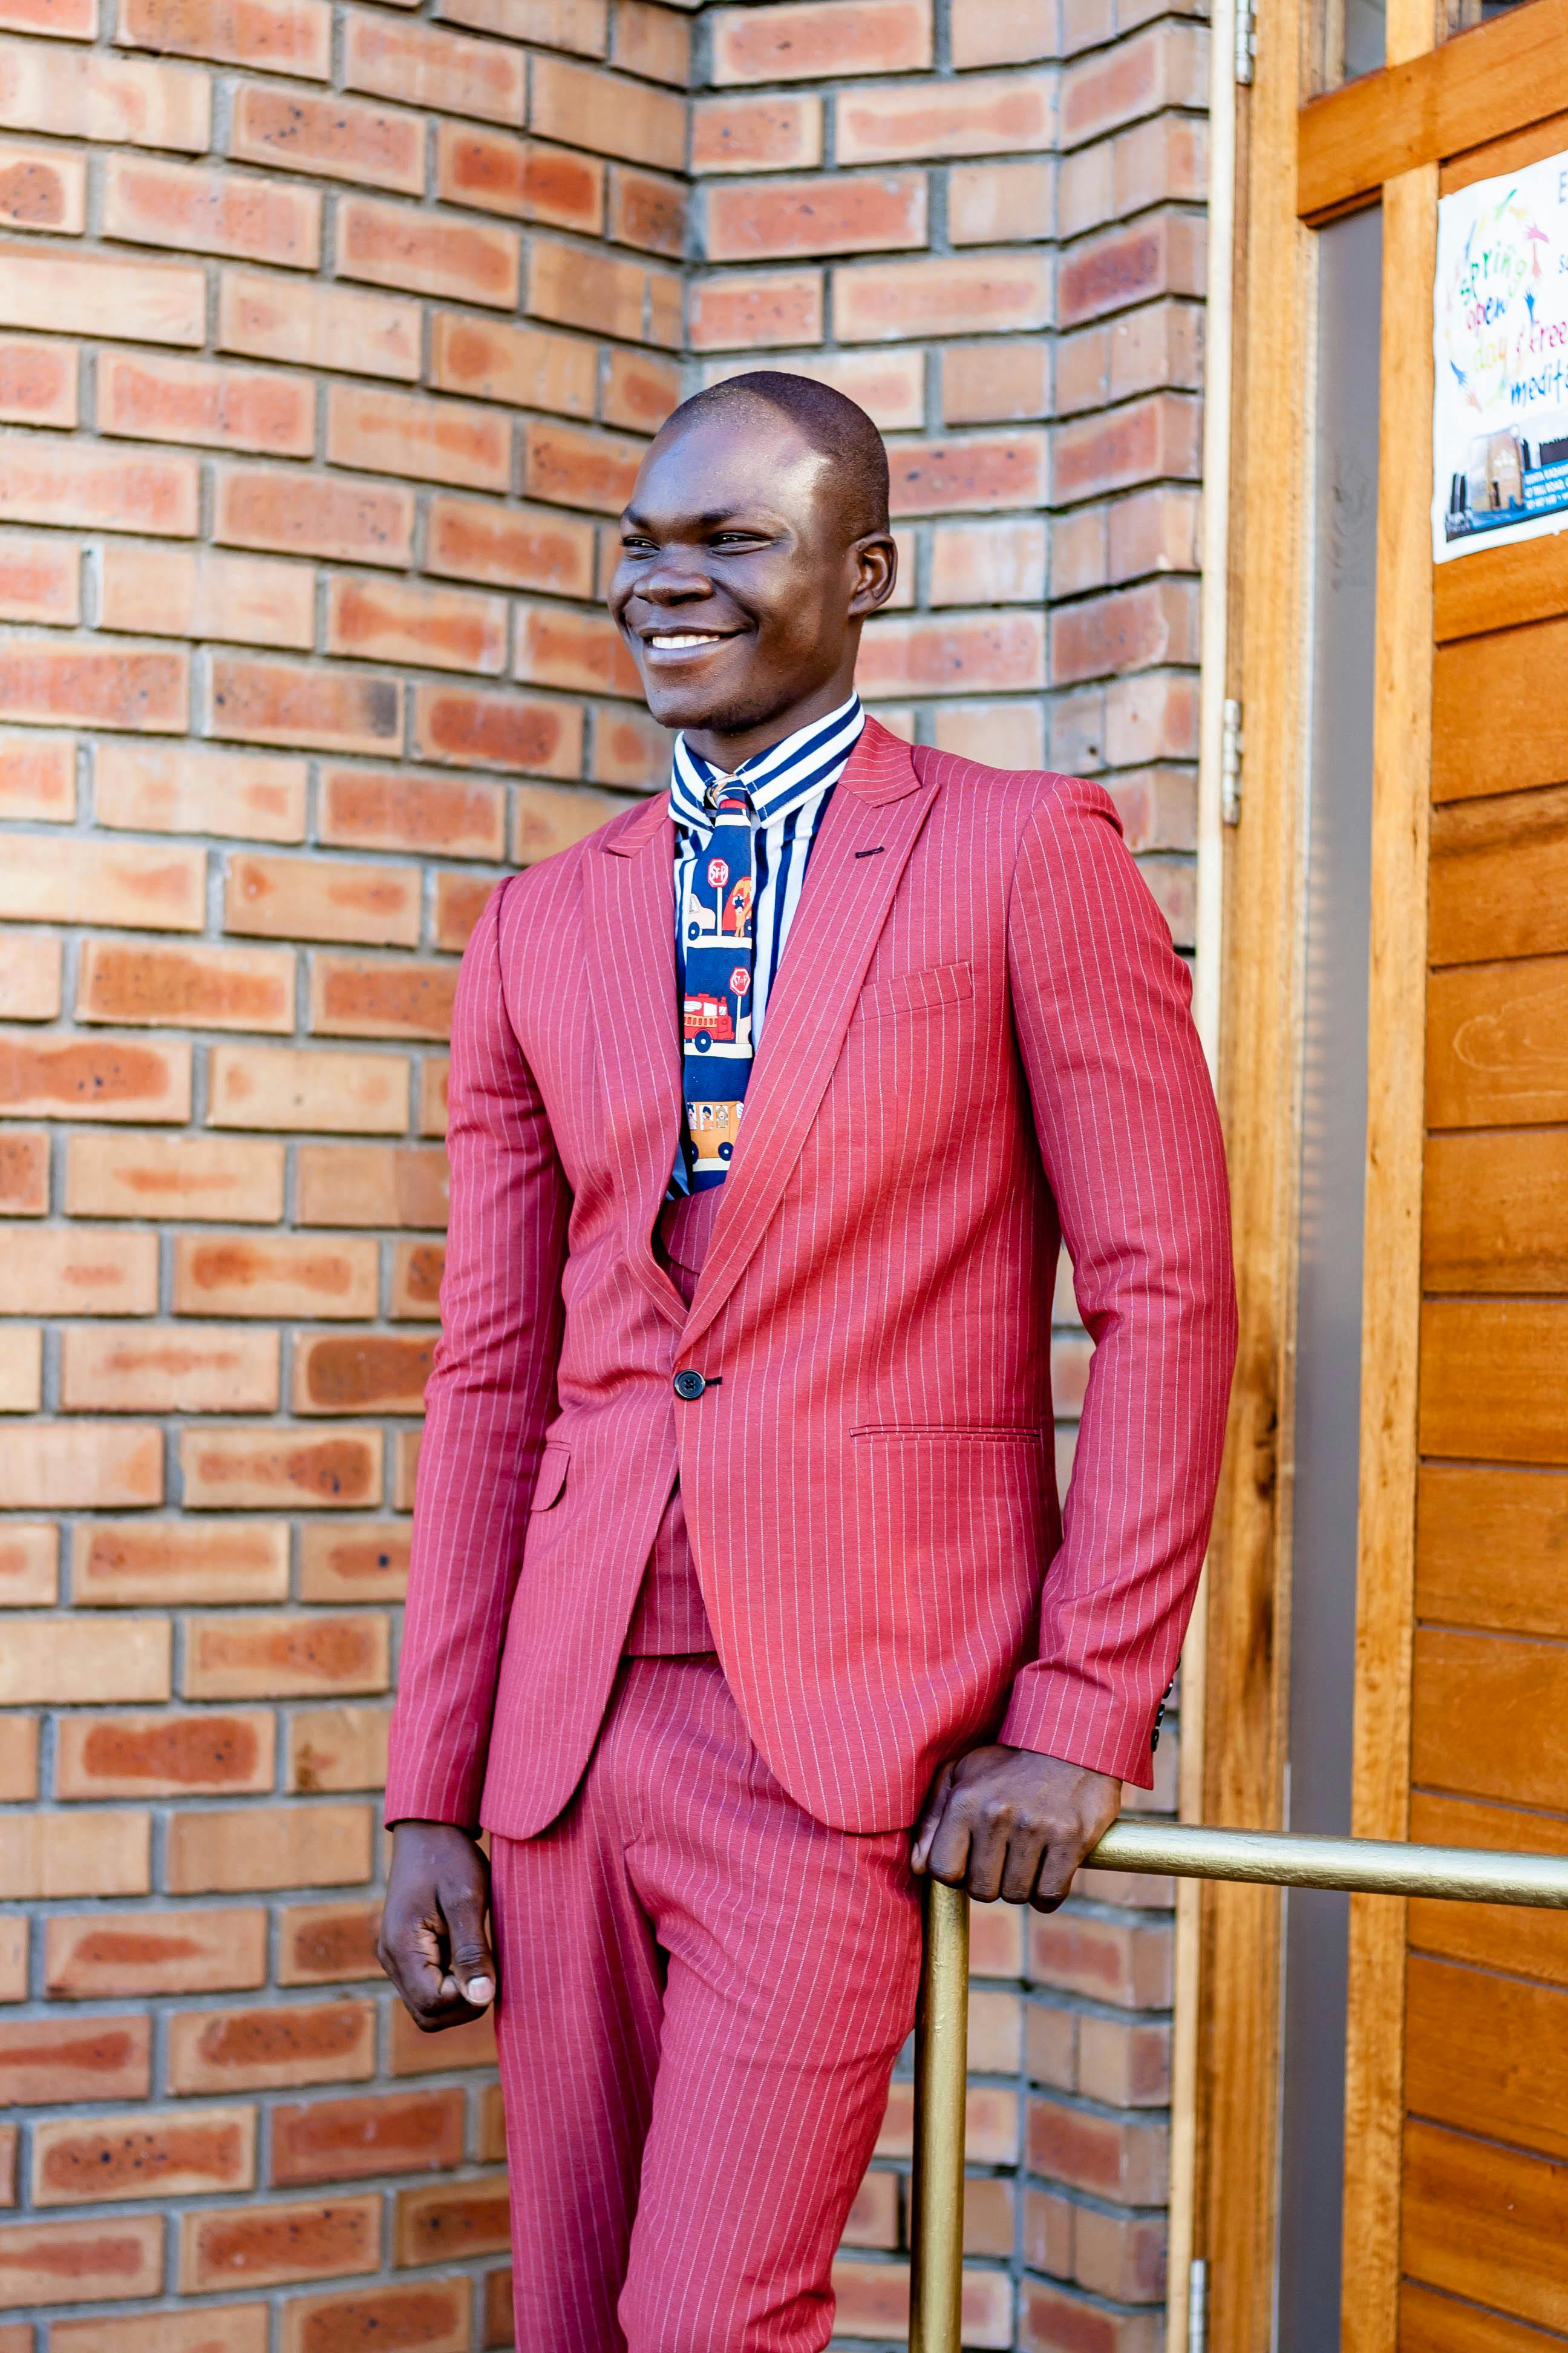
{"type": "Polygon", "coordinates": [[[1187,974],[1100,788],[865,720],[886,489],[802,376],[675,412],[611,586],[670,791],[458,984],[381,1953],[428,2031],[496,1995],[529,2353],[827,2341],[917,1875],[1063,1899],[1208,1532],[1187,974]]]}

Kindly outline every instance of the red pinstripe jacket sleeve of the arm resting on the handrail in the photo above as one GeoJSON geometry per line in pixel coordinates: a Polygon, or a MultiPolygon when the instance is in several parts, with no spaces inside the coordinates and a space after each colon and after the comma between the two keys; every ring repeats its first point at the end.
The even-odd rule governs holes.
{"type": "Polygon", "coordinates": [[[1208,1544],[1237,1301],[1192,984],[1098,786],[1056,779],[1023,835],[1009,976],[1095,1353],[1039,1657],[999,1739],[1147,1788],[1208,1544]]]}

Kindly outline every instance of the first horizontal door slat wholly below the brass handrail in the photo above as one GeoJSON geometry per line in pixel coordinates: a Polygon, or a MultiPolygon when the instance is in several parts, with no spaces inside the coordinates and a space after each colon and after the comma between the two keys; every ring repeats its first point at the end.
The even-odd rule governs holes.
{"type": "Polygon", "coordinates": [[[1406,2108],[1568,2158],[1568,1993],[1413,1953],[1406,2108]]]}

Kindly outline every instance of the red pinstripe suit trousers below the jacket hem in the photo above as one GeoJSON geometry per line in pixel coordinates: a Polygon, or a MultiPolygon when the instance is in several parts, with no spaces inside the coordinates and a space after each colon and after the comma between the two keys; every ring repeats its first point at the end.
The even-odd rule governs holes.
{"type": "Polygon", "coordinates": [[[517,2346],[818,2353],[914,2019],[907,1833],[816,1821],[717,1657],[644,1657],[491,1875],[517,2346]]]}

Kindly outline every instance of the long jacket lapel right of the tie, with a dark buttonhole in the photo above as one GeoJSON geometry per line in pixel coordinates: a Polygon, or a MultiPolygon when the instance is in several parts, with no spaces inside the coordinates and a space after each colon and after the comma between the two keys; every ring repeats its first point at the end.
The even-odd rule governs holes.
{"type": "Polygon", "coordinates": [[[811,849],[682,1348],[719,1313],[778,1207],[936,793],[910,746],[867,720],[811,849]]]}

